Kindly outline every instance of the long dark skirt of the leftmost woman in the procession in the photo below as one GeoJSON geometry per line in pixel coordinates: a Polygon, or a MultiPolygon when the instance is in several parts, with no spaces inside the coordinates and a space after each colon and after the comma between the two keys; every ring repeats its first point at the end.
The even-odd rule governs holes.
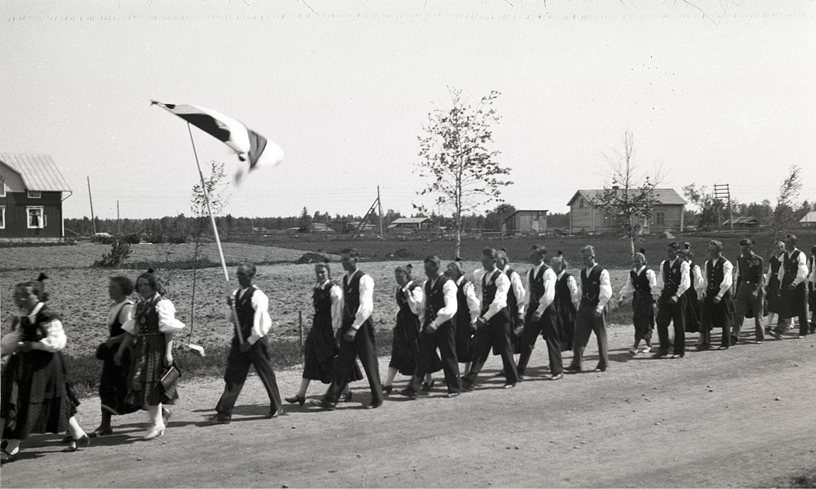
{"type": "Polygon", "coordinates": [[[63,433],[78,405],[62,353],[33,350],[11,355],[2,372],[3,438],[22,440],[31,433],[63,433]]]}

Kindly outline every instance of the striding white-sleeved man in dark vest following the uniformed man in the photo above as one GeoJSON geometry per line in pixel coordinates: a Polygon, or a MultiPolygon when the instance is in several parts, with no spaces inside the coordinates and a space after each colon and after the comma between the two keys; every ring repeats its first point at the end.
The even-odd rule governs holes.
{"type": "Polygon", "coordinates": [[[791,318],[799,318],[799,337],[808,334],[808,265],[805,253],[796,248],[796,234],[785,234],[785,252],[779,267],[779,322],[771,335],[779,338],[791,318]]]}

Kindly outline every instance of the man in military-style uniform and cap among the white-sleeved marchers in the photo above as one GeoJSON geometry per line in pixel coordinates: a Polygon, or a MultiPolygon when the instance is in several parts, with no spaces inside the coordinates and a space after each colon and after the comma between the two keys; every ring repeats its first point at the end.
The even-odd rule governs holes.
{"type": "Polygon", "coordinates": [[[737,287],[734,289],[734,327],[731,329],[731,343],[739,340],[739,329],[750,310],[754,317],[756,343],[765,340],[762,329],[762,288],[765,287],[765,262],[753,250],[754,243],[745,238],[739,242],[740,256],[737,259],[737,287]]]}

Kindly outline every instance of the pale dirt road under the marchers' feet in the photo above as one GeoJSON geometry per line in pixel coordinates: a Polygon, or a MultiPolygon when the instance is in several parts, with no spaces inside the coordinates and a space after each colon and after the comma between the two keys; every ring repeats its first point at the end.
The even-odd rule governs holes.
{"type": "MultiPolygon", "coordinates": [[[[2,487],[756,487],[816,467],[816,336],[676,360],[633,358],[631,339],[632,327],[610,330],[604,373],[542,380],[539,340],[516,389],[500,389],[492,357],[472,393],[446,399],[437,382],[427,398],[392,394],[374,411],[362,409],[363,380],[336,411],[287,405],[264,420],[251,377],[231,425],[203,424],[222,382],[187,381],[164,437],[140,440],[143,414],[114,418],[114,436],[73,454],[34,436],[2,487]]],[[[299,376],[278,372],[282,396],[299,376]]],[[[98,408],[80,407],[86,429],[98,408]]]]}

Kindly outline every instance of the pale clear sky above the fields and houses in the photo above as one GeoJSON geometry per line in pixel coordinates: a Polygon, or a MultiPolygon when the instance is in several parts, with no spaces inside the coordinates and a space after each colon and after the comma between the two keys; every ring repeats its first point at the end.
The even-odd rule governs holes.
{"type": "MultiPolygon", "coordinates": [[[[518,208],[568,210],[635,138],[662,187],[728,183],[772,202],[791,164],[816,200],[816,2],[526,0],[0,4],[0,153],[47,153],[66,217],[189,214],[184,122],[151,99],[226,113],[279,144],[231,189],[233,216],[404,214],[428,113],[457,87],[501,92],[498,161],[518,208]]],[[[193,130],[202,163],[237,158],[193,130]]],[[[491,205],[493,207],[495,204],[491,205]]],[[[450,209],[442,209],[450,213],[450,209]]]]}

